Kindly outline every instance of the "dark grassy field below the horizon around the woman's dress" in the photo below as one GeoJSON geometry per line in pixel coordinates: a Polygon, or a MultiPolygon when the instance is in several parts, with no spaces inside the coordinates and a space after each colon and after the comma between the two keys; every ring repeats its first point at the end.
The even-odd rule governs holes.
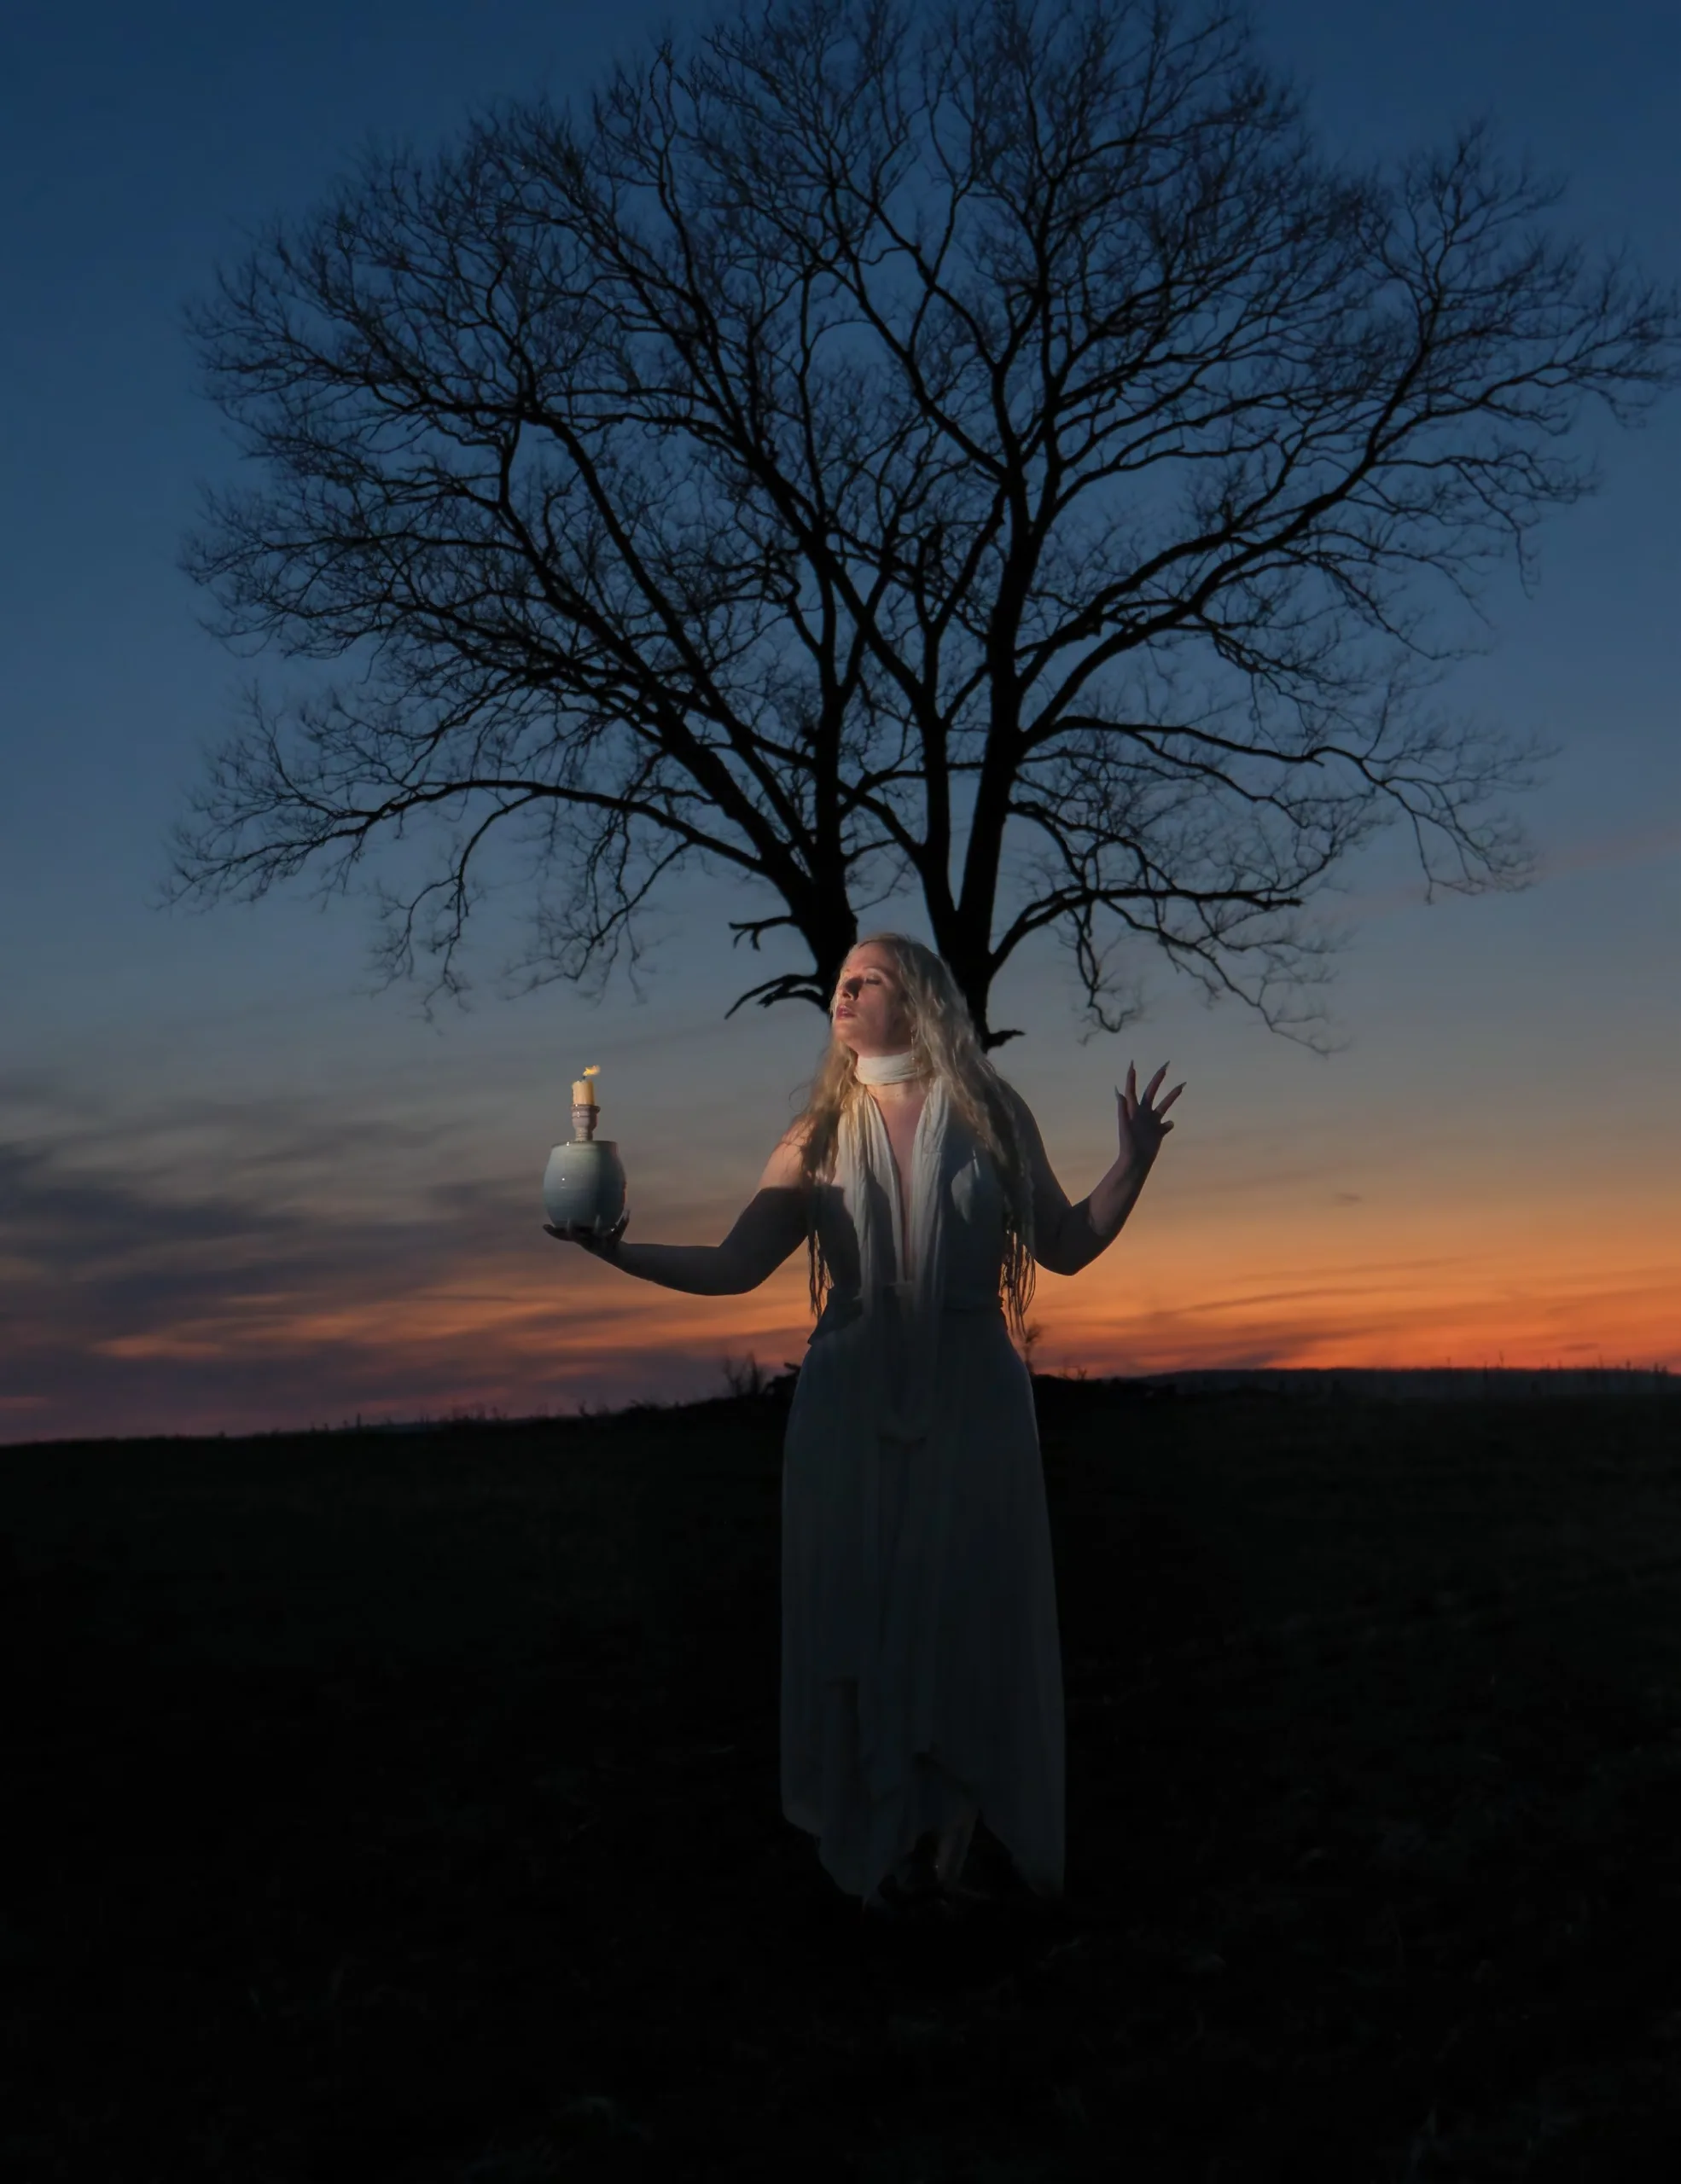
{"type": "Polygon", "coordinates": [[[1681,1404],[1039,1382],[1068,1898],[777,1802],[782,1402],[0,1450],[15,2184],[1681,2175],[1681,1404]]]}

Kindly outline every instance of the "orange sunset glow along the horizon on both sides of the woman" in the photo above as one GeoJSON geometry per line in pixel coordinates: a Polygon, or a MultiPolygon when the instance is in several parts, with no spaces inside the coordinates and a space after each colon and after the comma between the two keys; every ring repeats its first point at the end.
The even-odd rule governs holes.
{"type": "MultiPolygon", "coordinates": [[[[1273,1234],[1262,1249],[1216,1245],[1188,1223],[1135,1225],[1096,1267],[1039,1273],[1028,1324],[1041,1372],[1170,1374],[1255,1367],[1681,1367],[1681,1254],[1653,1251],[1650,1221],[1554,1225],[1550,1249],[1430,1238],[1393,1256],[1325,1234],[1273,1234]],[[1434,1247],[1432,1247],[1434,1243],[1434,1247]],[[1421,1247],[1421,1249],[1419,1249],[1421,1247]]],[[[1388,1243],[1388,1236],[1384,1238],[1388,1243]]],[[[7,1437],[251,1433],[362,1411],[439,1417],[616,1409],[723,1393],[723,1361],[753,1354],[775,1374],[810,1332],[803,1256],[744,1297],[683,1297],[570,1254],[533,1280],[522,1254],[478,1256],[448,1280],[369,1297],[227,1293],[194,1313],[90,1345],[129,1367],[120,1424],[61,1402],[0,1404],[7,1437]],[[231,1378],[229,1378],[231,1376],[231,1378]],[[249,1380],[251,1402],[231,1389],[249,1380]],[[260,1389],[264,1393],[260,1393],[260,1389]],[[282,1391],[286,1391],[282,1396],[282,1391]],[[308,1391],[308,1393],[303,1393],[308,1391]]],[[[541,1267],[544,1262],[539,1262],[541,1267]]]]}

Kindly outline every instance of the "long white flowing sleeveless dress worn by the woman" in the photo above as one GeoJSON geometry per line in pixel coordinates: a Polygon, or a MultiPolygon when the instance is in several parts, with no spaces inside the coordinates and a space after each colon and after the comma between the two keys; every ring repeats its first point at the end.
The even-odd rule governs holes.
{"type": "Polygon", "coordinates": [[[980,1808],[1063,1891],[1063,1677],[1033,1382],[998,1302],[1004,1199],[939,1083],[899,1214],[865,1094],[816,1221],[834,1286],[782,1468],[782,1811],[867,1898],[980,1808]]]}

